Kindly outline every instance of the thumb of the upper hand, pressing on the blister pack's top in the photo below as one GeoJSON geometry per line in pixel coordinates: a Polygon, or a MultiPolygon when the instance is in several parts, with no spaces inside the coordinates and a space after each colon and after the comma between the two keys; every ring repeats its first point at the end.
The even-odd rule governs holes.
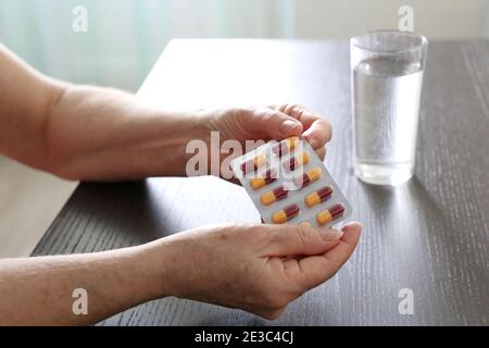
{"type": "Polygon", "coordinates": [[[242,112],[241,122],[252,134],[266,134],[272,139],[284,139],[302,134],[303,126],[297,119],[271,108],[242,112]]]}

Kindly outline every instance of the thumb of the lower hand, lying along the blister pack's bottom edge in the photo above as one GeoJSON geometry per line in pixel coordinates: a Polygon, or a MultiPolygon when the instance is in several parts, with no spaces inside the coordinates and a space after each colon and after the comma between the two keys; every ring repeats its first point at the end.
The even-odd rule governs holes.
{"type": "MultiPolygon", "coordinates": [[[[271,225],[268,225],[271,226],[271,225]]],[[[267,257],[323,254],[334,248],[342,236],[335,229],[316,229],[302,225],[271,226],[273,232],[264,252],[267,257]]]]}

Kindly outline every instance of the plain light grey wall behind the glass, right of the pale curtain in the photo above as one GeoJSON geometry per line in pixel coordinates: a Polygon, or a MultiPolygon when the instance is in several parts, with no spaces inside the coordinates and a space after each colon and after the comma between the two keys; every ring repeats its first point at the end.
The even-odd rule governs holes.
{"type": "Polygon", "coordinates": [[[298,0],[294,35],[348,38],[368,30],[397,28],[401,5],[413,9],[415,32],[429,38],[489,35],[487,0],[298,0]]]}

